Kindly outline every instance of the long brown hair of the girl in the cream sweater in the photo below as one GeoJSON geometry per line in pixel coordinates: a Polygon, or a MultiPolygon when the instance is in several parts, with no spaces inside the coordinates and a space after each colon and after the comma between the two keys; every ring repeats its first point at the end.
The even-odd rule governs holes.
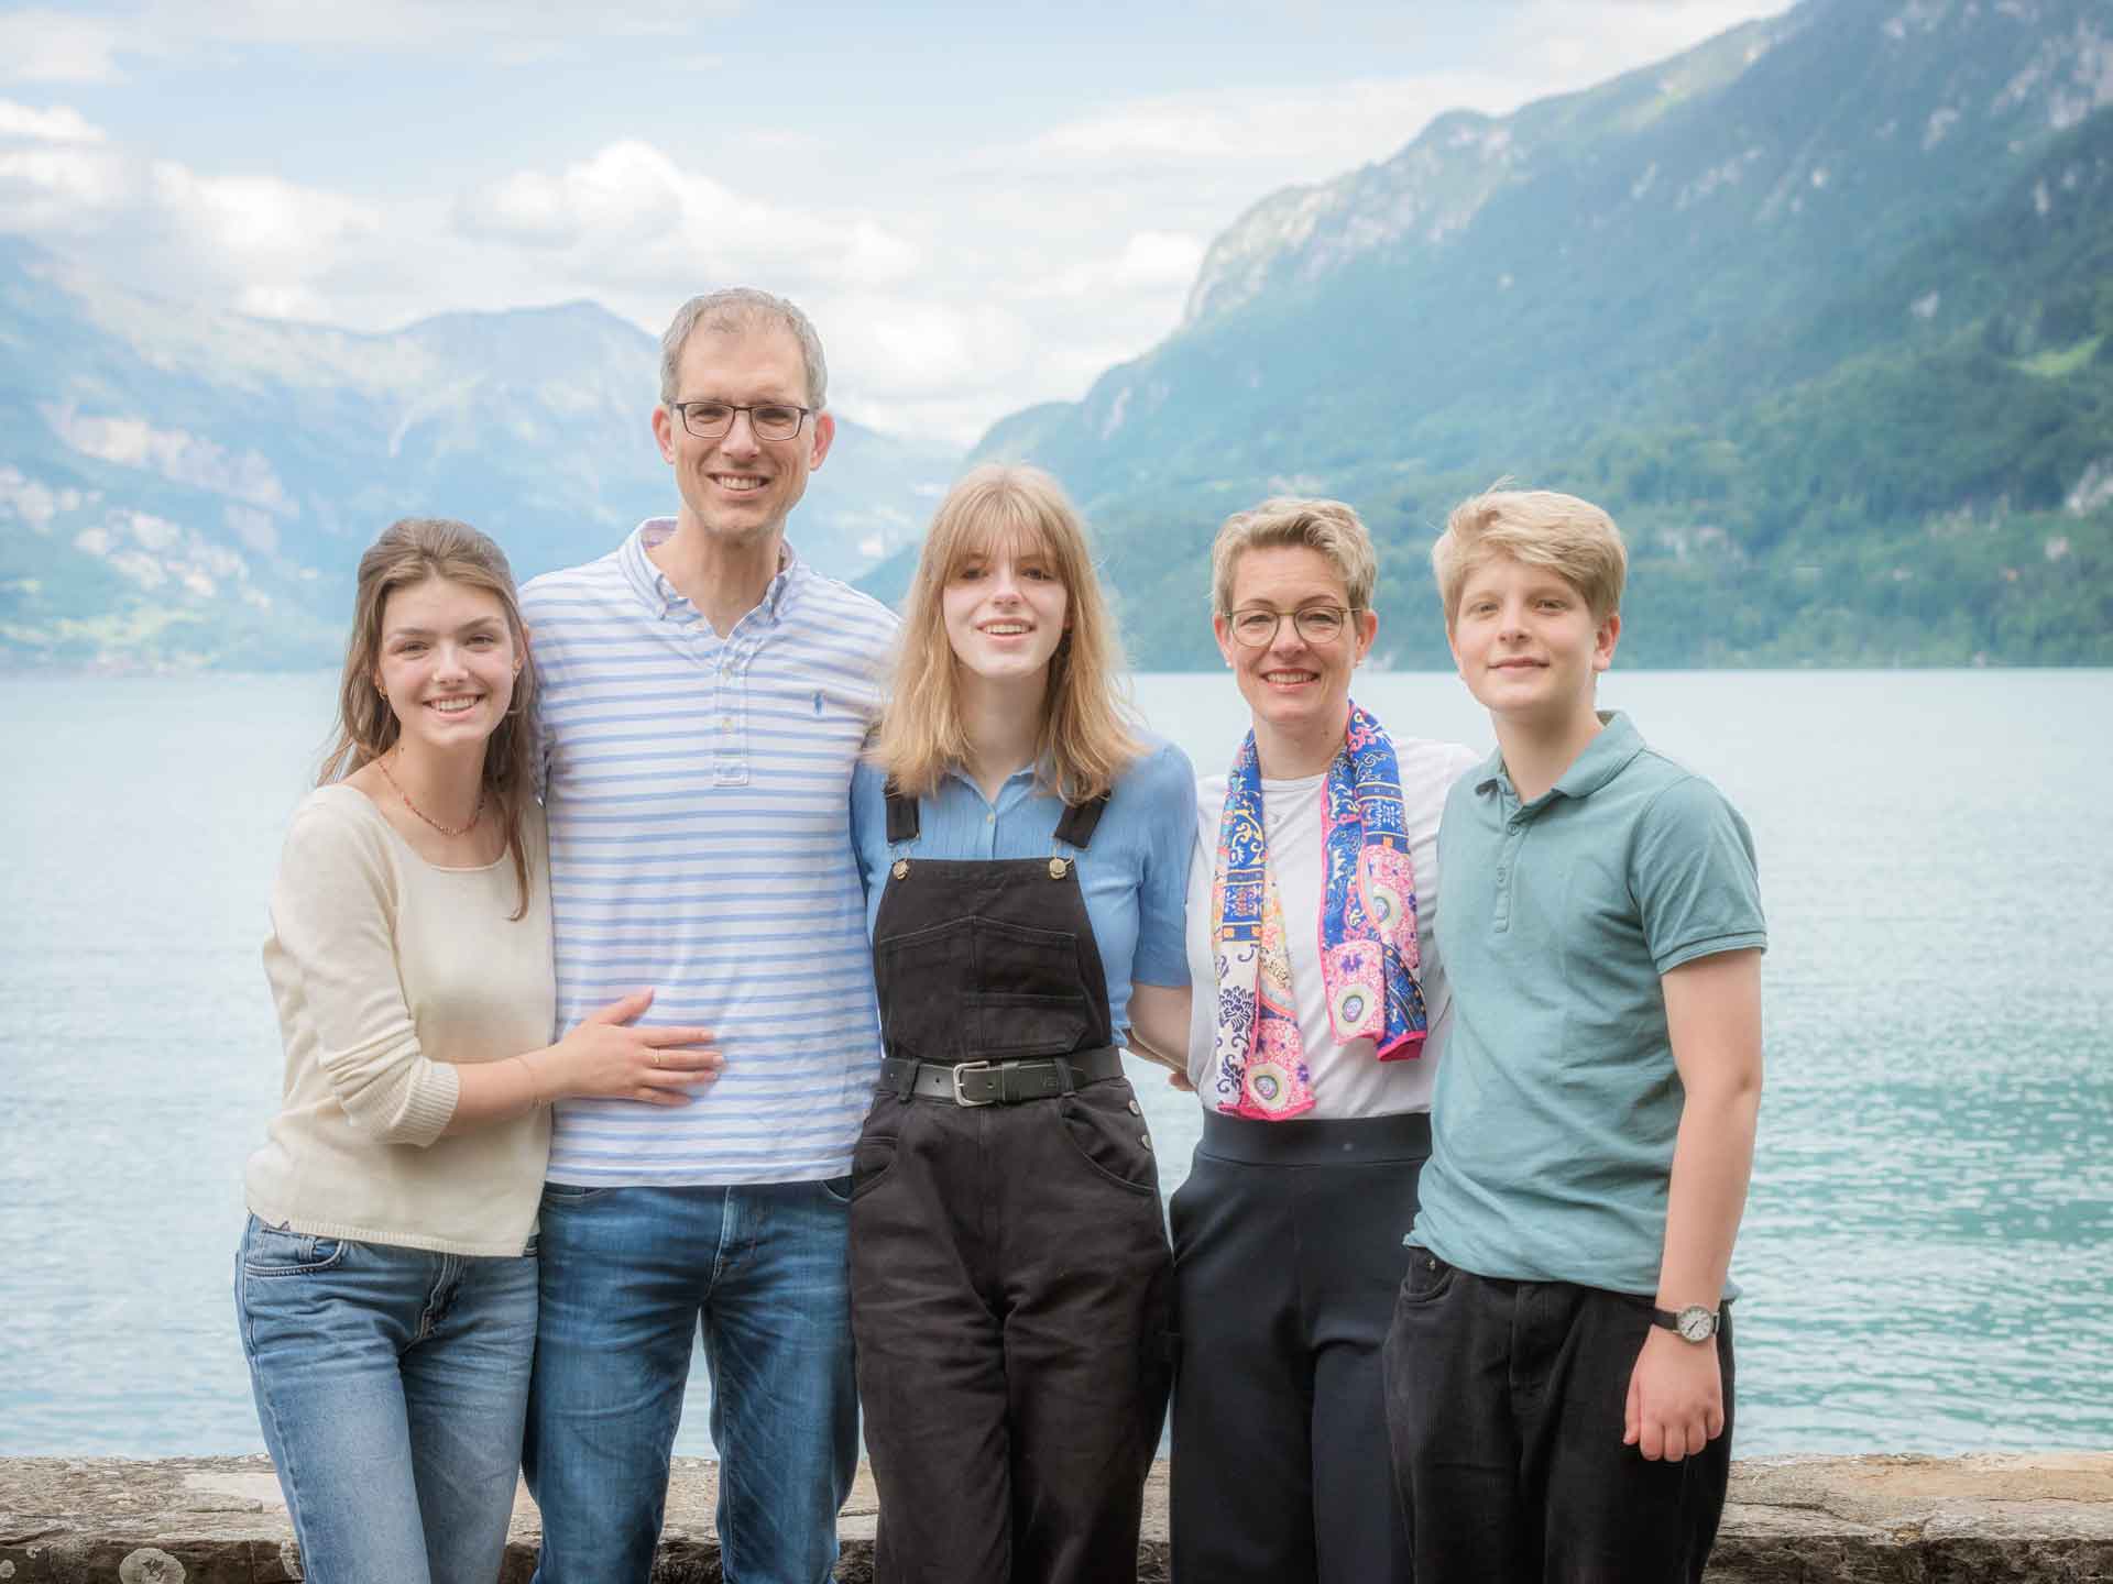
{"type": "Polygon", "coordinates": [[[344,642],[344,674],[338,678],[338,722],[334,741],[323,754],[317,786],[342,781],[353,771],[395,748],[401,727],[395,710],[374,684],[382,653],[382,612],[389,596],[427,579],[484,589],[505,610],[513,650],[522,670],[513,678],[513,699],[499,729],[484,743],[484,800],[507,832],[507,853],[513,857],[513,879],[520,883],[516,919],[528,917],[528,851],[522,843],[522,813],[535,796],[535,659],[528,655],[528,629],[522,625],[520,596],[513,591],[513,568],[507,553],[467,522],[452,517],[404,517],[382,528],[368,553],[359,558],[359,585],[353,593],[353,634],[344,642]]]}

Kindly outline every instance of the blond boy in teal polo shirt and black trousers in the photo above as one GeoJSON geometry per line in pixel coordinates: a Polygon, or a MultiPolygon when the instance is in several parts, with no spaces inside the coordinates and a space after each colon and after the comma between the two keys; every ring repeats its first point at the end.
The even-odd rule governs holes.
{"type": "Polygon", "coordinates": [[[1384,1354],[1416,1580],[1693,1584],[1731,1472],[1754,841],[1593,708],[1627,572],[1604,511],[1481,494],[1431,560],[1498,748],[1439,828],[1454,1026],[1384,1354]]]}

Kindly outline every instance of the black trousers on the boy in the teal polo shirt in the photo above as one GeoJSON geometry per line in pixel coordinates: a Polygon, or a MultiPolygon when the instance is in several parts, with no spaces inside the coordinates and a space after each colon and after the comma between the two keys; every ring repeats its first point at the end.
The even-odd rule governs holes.
{"type": "Polygon", "coordinates": [[[1416,1584],[1699,1584],[1731,1478],[1731,1307],[1724,1434],[1648,1462],[1621,1432],[1650,1299],[1409,1255],[1386,1421],[1416,1584]]]}

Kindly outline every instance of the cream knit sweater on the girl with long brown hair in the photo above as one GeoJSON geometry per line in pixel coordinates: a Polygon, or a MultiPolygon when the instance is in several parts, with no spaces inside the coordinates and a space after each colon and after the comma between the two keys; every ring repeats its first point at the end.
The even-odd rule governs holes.
{"type": "Polygon", "coordinates": [[[294,813],[264,942],[285,1098],[243,1178],[260,1221],[450,1255],[524,1250],[549,1113],[442,1136],[456,1064],[549,1043],[549,866],[535,805],[522,834],[528,914],[513,921],[507,853],[437,868],[342,784],[294,813]]]}

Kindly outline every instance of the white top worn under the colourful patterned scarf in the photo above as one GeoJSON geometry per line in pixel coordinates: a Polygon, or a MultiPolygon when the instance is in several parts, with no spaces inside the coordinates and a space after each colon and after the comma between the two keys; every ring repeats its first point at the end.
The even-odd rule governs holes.
{"type": "MultiPolygon", "coordinates": [[[[1418,982],[1428,1016],[1422,1056],[1382,1062],[1369,1039],[1335,1043],[1321,984],[1321,784],[1325,775],[1295,781],[1261,781],[1261,824],[1270,843],[1270,870],[1285,906],[1285,955],[1291,959],[1291,999],[1299,1014],[1299,1039],[1312,1071],[1314,1107],[1306,1117],[1386,1117],[1428,1111],[1431,1086],[1452,1026],[1452,993],[1437,950],[1439,815],[1445,792],[1481,756],[1460,743],[1395,737],[1401,767],[1401,811],[1409,832],[1409,862],[1416,866],[1416,940],[1422,953],[1418,982]]],[[[1198,1098],[1215,1109],[1217,1058],[1213,1016],[1217,1010],[1217,959],[1211,950],[1211,872],[1217,866],[1217,826],[1226,811],[1226,775],[1196,784],[1200,841],[1190,866],[1188,953],[1196,986],[1190,1001],[1190,1081],[1198,1098]]]]}

